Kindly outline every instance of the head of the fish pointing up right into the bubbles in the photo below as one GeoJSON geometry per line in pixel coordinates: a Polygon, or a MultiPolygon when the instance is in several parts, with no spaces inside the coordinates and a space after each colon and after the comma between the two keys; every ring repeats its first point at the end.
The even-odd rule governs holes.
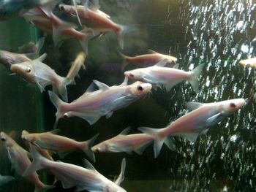
{"type": "Polygon", "coordinates": [[[241,109],[245,104],[244,99],[230,99],[222,101],[222,111],[230,113],[241,109]]]}

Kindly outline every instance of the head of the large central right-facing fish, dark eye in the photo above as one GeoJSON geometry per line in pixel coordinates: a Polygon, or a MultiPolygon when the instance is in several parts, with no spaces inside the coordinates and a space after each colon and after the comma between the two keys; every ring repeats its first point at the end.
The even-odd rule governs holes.
{"type": "Polygon", "coordinates": [[[132,85],[129,85],[126,92],[133,96],[143,96],[151,91],[152,85],[147,82],[137,81],[132,85]]]}

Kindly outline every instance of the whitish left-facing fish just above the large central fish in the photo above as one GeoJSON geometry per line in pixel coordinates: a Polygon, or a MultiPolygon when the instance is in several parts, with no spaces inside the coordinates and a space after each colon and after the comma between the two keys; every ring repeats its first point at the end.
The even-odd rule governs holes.
{"type": "Polygon", "coordinates": [[[129,79],[148,82],[159,87],[163,85],[167,91],[170,91],[170,89],[179,82],[188,80],[194,91],[199,92],[197,77],[200,72],[202,72],[204,64],[200,64],[191,72],[165,67],[166,64],[167,59],[164,59],[154,66],[126,71],[124,75],[129,79]]]}

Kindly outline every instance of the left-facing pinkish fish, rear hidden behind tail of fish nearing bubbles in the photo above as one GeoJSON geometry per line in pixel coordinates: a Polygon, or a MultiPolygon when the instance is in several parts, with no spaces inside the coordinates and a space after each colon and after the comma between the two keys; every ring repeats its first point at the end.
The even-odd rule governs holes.
{"type": "Polygon", "coordinates": [[[154,140],[151,135],[148,134],[128,134],[130,128],[125,128],[116,137],[100,142],[97,145],[91,147],[94,153],[121,153],[126,152],[128,154],[135,151],[141,155],[143,151],[154,140]]]}

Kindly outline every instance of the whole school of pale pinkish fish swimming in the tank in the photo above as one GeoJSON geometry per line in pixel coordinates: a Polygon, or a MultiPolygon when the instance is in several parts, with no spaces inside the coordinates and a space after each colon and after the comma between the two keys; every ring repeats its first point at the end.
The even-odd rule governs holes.
{"type": "MultiPolygon", "coordinates": [[[[7,4],[0,3],[0,7],[9,7],[7,4]]],[[[14,4],[17,2],[13,1],[14,4]]],[[[110,118],[114,111],[128,107],[138,99],[151,93],[152,89],[165,89],[167,93],[173,86],[187,80],[196,93],[200,92],[198,78],[203,72],[204,64],[200,64],[195,69],[185,72],[177,69],[176,66],[170,67],[167,64],[175,64],[178,59],[171,55],[164,55],[150,50],[145,55],[134,57],[124,55],[119,52],[124,59],[125,69],[127,64],[142,64],[142,68],[124,71],[124,82],[120,85],[106,85],[98,80],[92,80],[91,85],[78,99],[69,102],[67,85],[75,86],[75,77],[78,76],[80,69],[86,69],[86,56],[89,50],[89,41],[100,39],[103,35],[113,31],[116,34],[118,45],[124,49],[124,37],[127,33],[138,30],[133,27],[124,26],[113,22],[108,13],[99,10],[97,1],[85,1],[80,5],[77,1],[72,1],[72,5],[59,4],[59,1],[28,1],[26,4],[18,4],[19,8],[11,15],[24,18],[33,26],[39,28],[45,34],[52,36],[53,45],[60,47],[65,39],[76,39],[80,43],[81,52],[78,53],[70,66],[66,77],[56,74],[48,64],[45,64],[47,54],[40,55],[40,50],[44,43],[44,38],[37,44],[29,42],[28,45],[20,47],[21,52],[11,53],[8,50],[0,50],[0,63],[12,74],[17,74],[29,83],[36,85],[39,90],[48,90],[50,101],[56,107],[56,123],[53,131],[42,133],[29,133],[22,131],[21,139],[29,147],[30,153],[23,149],[12,137],[3,131],[0,133],[0,140],[4,146],[9,161],[15,172],[34,183],[34,191],[48,190],[54,188],[57,180],[60,180],[63,188],[75,187],[76,191],[91,192],[121,192],[126,191],[122,188],[121,182],[124,180],[125,159],[121,163],[121,173],[113,182],[97,172],[89,161],[84,160],[86,168],[75,164],[68,164],[55,161],[52,153],[58,153],[61,158],[73,150],[82,150],[92,162],[97,158],[94,153],[128,153],[132,152],[143,154],[147,147],[153,145],[154,158],[159,155],[162,145],[167,145],[170,150],[176,150],[176,145],[171,137],[182,137],[190,142],[196,142],[200,134],[206,134],[208,128],[217,125],[221,120],[240,110],[246,104],[245,99],[237,98],[212,103],[188,102],[187,107],[190,112],[181,116],[173,122],[166,122],[164,128],[138,128],[140,133],[129,134],[130,128],[125,128],[116,137],[98,142],[94,145],[98,135],[91,139],[78,142],[75,139],[61,136],[58,126],[60,118],[72,118],[77,116],[86,120],[85,123],[93,125],[99,118],[105,116],[110,118]],[[61,20],[54,10],[63,12],[70,18],[75,18],[75,23],[61,20]],[[128,79],[134,82],[128,84],[128,79]],[[51,85],[52,91],[48,85],[51,85]],[[33,161],[31,161],[31,158],[33,161]],[[54,175],[55,181],[50,185],[39,180],[37,171],[48,169],[54,175]]],[[[6,8],[7,9],[7,8],[6,8]]],[[[2,11],[2,9],[0,9],[2,11]]],[[[4,16],[1,19],[7,19],[4,16]]],[[[249,58],[240,61],[242,66],[256,67],[256,59],[249,58]]],[[[10,176],[0,175],[0,185],[14,180],[10,176]]],[[[6,184],[5,184],[6,185],[6,184]]]]}

